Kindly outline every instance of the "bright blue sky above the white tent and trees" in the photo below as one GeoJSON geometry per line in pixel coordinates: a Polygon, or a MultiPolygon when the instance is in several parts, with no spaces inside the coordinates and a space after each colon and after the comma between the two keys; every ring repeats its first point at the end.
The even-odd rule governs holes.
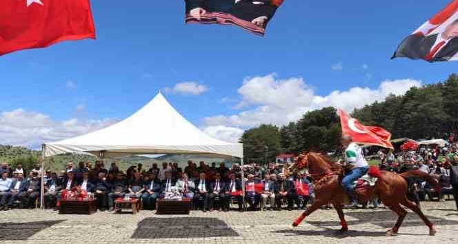
{"type": "MultiPolygon", "coordinates": [[[[3,133],[10,137],[3,143],[34,146],[62,137],[30,133],[22,138],[21,126],[46,134],[43,130],[67,126],[62,123],[77,119],[79,122],[73,124],[84,126],[66,128],[64,135],[94,130],[87,121],[123,119],[150,101],[158,90],[183,82],[206,88],[197,95],[166,92],[183,116],[203,129],[220,123],[243,130],[257,122],[288,121],[275,118],[282,116],[280,113],[263,121],[253,116],[252,123],[230,122],[231,115],[243,112],[281,112],[272,108],[276,101],[271,98],[279,96],[275,92],[288,91],[282,88],[285,83],[293,84],[288,86],[290,90],[298,85],[302,89],[299,96],[310,99],[292,102],[295,110],[305,112],[319,108],[310,104],[314,97],[326,98],[335,90],[359,87],[380,93],[379,86],[387,79],[410,79],[406,81],[410,85],[417,85],[415,81],[435,83],[457,71],[453,62],[390,60],[406,34],[446,6],[448,0],[286,0],[270,22],[266,37],[231,26],[186,25],[184,3],[179,0],[91,2],[97,40],[64,42],[0,57],[3,123],[11,115],[6,112],[19,108],[23,110],[17,116],[32,118],[32,125],[37,114],[45,116],[48,123],[8,124],[8,132],[5,129],[3,133]],[[269,74],[275,75],[272,78],[269,74]],[[243,85],[243,81],[258,85],[243,85]],[[259,84],[273,88],[273,93],[258,99],[257,94],[263,94],[263,90],[256,90],[263,88],[259,84]]],[[[392,89],[405,92],[405,88],[392,89]]],[[[287,100],[295,99],[291,96],[287,100]]],[[[290,112],[290,118],[295,119],[298,113],[290,112]]],[[[230,132],[237,134],[239,130],[230,132]]],[[[226,139],[224,132],[208,132],[226,139]]],[[[233,140],[235,135],[231,136],[233,140]]]]}

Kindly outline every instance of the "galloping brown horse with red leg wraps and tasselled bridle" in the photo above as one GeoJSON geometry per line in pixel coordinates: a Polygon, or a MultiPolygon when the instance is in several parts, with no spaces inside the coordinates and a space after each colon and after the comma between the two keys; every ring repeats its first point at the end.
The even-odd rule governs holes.
{"type": "MultiPolygon", "coordinates": [[[[319,207],[332,203],[335,210],[337,210],[337,214],[339,214],[342,226],[340,231],[348,231],[348,225],[343,211],[343,205],[348,201],[348,196],[346,196],[346,192],[340,184],[340,178],[342,176],[341,165],[332,163],[326,156],[310,152],[308,154],[300,154],[295,160],[295,163],[288,167],[286,172],[289,173],[291,170],[302,170],[303,168],[308,168],[308,172],[315,183],[315,203],[303,212],[292,225],[296,227],[306,218],[306,216],[315,212],[319,207]]],[[[434,236],[436,230],[432,226],[432,223],[426,218],[423,212],[421,212],[420,208],[407,198],[408,184],[406,178],[409,177],[418,177],[427,181],[440,193],[441,187],[437,181],[429,174],[419,170],[406,172],[404,174],[381,171],[377,177],[377,183],[375,183],[373,187],[362,187],[356,190],[358,200],[369,201],[377,196],[386,207],[396,212],[399,217],[397,218],[395,226],[386,232],[387,236],[396,235],[402,221],[404,221],[404,217],[406,217],[407,211],[404,210],[401,205],[417,213],[421,220],[428,225],[430,230],[429,234],[434,236]]]]}

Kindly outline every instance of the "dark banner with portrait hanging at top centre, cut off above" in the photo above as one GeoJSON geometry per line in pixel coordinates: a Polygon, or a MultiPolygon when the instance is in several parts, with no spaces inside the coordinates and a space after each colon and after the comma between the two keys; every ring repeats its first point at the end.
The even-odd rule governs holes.
{"type": "Polygon", "coordinates": [[[186,23],[239,26],[263,36],[284,0],[185,0],[186,23]]]}

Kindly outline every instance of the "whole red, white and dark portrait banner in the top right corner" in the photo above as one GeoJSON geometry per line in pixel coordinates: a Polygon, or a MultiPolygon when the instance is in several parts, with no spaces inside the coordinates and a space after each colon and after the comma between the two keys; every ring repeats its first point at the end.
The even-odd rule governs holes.
{"type": "Polygon", "coordinates": [[[392,59],[396,57],[429,62],[458,60],[458,0],[406,37],[392,59]]]}

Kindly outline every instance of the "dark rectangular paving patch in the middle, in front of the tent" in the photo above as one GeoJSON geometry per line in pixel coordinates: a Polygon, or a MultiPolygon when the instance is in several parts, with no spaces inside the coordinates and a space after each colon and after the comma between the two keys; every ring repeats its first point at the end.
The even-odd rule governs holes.
{"type": "Polygon", "coordinates": [[[203,238],[239,236],[218,218],[145,218],[132,234],[134,239],[203,238]]]}

